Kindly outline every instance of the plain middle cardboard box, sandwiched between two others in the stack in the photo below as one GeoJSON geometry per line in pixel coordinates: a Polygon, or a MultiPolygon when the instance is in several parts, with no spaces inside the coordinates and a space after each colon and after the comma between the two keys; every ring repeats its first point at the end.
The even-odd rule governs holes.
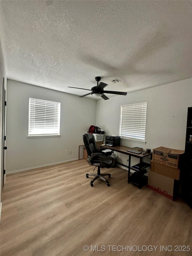
{"type": "Polygon", "coordinates": [[[169,167],[167,165],[155,163],[151,160],[151,171],[179,180],[180,169],[169,167]]]}

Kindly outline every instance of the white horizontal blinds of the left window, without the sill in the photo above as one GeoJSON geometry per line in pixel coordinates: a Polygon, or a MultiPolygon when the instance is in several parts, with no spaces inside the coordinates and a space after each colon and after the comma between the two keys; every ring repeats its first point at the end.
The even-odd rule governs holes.
{"type": "Polygon", "coordinates": [[[29,136],[59,135],[60,102],[29,98],[29,136]]]}

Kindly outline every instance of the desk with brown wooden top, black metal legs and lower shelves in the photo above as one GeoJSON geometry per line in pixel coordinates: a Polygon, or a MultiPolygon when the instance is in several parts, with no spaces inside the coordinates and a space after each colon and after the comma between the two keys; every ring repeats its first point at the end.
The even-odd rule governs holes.
{"type": "MultiPolygon", "coordinates": [[[[116,146],[116,147],[110,147],[110,146],[106,146],[106,145],[101,145],[101,147],[105,147],[108,149],[111,149],[112,152],[116,151],[116,152],[120,152],[122,154],[128,155],[129,156],[129,165],[128,165],[128,183],[133,183],[135,185],[138,186],[138,188],[140,189],[143,185],[147,184],[147,177],[143,177],[143,174],[145,174],[147,172],[146,168],[142,168],[142,162],[143,162],[143,158],[150,156],[150,159],[152,159],[152,152],[151,153],[146,153],[145,155],[143,155],[143,153],[141,154],[136,154],[136,153],[132,153],[132,152],[128,152],[127,150],[131,149],[129,147],[125,147],[125,146],[116,146]],[[133,167],[131,167],[131,156],[133,157],[137,157],[140,159],[140,166],[138,169],[135,169],[133,167]],[[136,172],[134,172],[133,174],[131,174],[130,176],[130,170],[134,170],[136,172]]],[[[150,166],[150,164],[148,165],[150,166]]]]}

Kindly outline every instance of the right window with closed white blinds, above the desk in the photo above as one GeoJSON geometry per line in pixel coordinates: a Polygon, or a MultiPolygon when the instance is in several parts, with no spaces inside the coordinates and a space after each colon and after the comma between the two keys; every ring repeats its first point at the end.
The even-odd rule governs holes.
{"type": "Polygon", "coordinates": [[[145,143],[147,103],[121,106],[120,136],[145,143]]]}

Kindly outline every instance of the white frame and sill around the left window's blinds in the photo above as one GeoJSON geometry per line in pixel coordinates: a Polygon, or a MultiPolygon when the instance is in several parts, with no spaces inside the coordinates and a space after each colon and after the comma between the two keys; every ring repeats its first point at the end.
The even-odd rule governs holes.
{"type": "Polygon", "coordinates": [[[31,138],[52,138],[52,137],[61,137],[60,134],[60,117],[61,117],[61,103],[60,102],[55,102],[55,101],[48,101],[48,100],[43,100],[43,99],[36,99],[36,98],[29,98],[29,122],[28,122],[28,139],[31,138]],[[57,104],[58,105],[58,134],[30,134],[29,135],[29,129],[30,129],[30,100],[36,100],[44,103],[52,103],[52,104],[57,104]]]}

